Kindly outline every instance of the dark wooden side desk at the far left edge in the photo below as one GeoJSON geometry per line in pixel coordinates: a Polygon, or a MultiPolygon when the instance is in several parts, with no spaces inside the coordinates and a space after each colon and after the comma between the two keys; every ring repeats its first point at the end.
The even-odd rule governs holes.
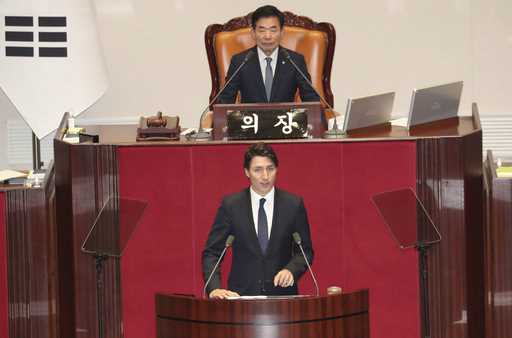
{"type": "Polygon", "coordinates": [[[7,278],[9,337],[57,335],[54,172],[42,188],[8,190],[7,278]]]}

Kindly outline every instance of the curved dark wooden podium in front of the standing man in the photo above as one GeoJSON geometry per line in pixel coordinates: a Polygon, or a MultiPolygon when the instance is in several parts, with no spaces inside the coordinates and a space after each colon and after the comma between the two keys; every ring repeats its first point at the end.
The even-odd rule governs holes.
{"type": "Polygon", "coordinates": [[[156,325],[158,338],[366,338],[368,290],[257,300],[157,294],[156,325]]]}

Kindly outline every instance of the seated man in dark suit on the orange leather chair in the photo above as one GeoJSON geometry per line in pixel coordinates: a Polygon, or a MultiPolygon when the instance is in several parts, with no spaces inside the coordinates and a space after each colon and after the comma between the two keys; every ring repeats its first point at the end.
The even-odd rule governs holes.
{"type": "MultiPolygon", "coordinates": [[[[297,89],[302,101],[319,101],[313,88],[282,53],[285,48],[279,44],[284,33],[283,13],[274,6],[260,7],[253,12],[251,24],[256,46],[231,58],[226,81],[248,53],[252,56],[219,96],[219,103],[235,103],[238,92],[242,103],[293,102],[297,89]]],[[[286,51],[311,80],[304,56],[289,49],[286,51]]],[[[211,119],[210,112],[203,126],[211,126],[211,119]]]]}

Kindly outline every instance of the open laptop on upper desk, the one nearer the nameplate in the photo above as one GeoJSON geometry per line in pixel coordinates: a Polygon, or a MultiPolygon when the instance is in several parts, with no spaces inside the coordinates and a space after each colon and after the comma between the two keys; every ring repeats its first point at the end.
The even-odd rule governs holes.
{"type": "Polygon", "coordinates": [[[361,98],[349,98],[343,123],[343,131],[377,126],[389,122],[393,110],[395,92],[361,98]]]}

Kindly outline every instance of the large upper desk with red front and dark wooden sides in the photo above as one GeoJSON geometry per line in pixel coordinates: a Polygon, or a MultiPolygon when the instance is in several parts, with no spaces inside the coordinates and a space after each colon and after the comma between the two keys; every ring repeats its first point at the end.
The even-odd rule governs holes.
{"type": "MultiPolygon", "coordinates": [[[[65,121],[64,119],[63,121],[65,121]]],[[[64,130],[61,125],[59,130],[64,130]]],[[[247,187],[249,141],[135,142],[135,126],[86,126],[100,143],[55,140],[62,337],[96,337],[95,271],[80,246],[109,198],[147,202],[120,261],[107,267],[108,336],[156,336],[156,293],[200,296],[201,251],[223,196],[247,187]]],[[[442,240],[429,251],[432,337],[483,337],[482,131],[473,117],[271,142],[277,186],[304,198],[320,288],[370,291],[372,337],[420,337],[418,256],[400,250],[371,203],[411,187],[442,240]]],[[[400,206],[397,206],[400,207],[400,206]]],[[[120,206],[122,208],[122,206],[120,206]]],[[[230,257],[223,264],[229,271],[230,257]]],[[[225,280],[225,278],[224,278],[225,280]]],[[[308,275],[299,283],[312,293],[308,275]]]]}

